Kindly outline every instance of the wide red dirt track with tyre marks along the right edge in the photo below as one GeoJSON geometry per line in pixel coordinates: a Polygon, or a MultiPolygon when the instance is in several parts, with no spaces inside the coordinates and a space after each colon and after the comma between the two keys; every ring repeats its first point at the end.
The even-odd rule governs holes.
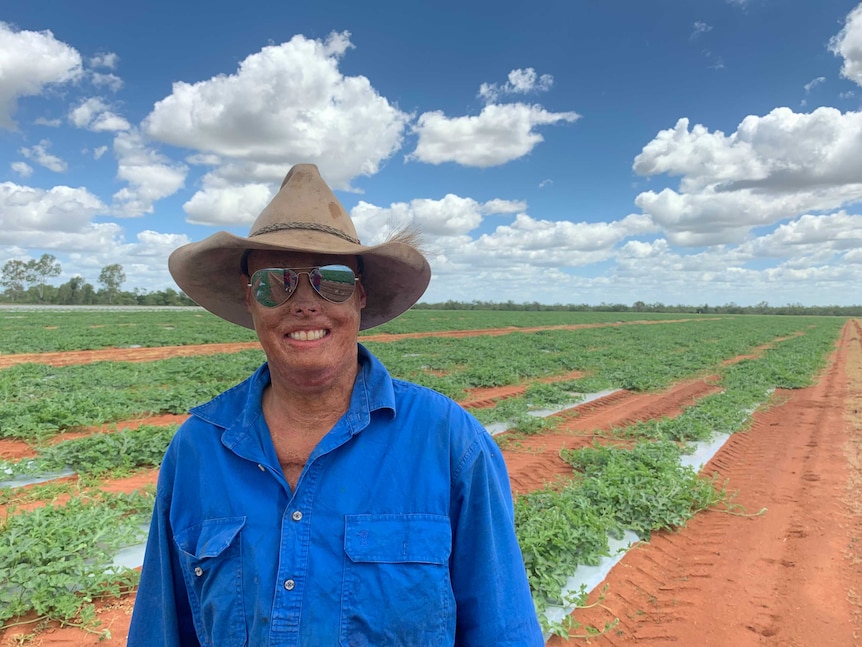
{"type": "MultiPolygon", "coordinates": [[[[575,612],[598,627],[619,618],[594,644],[859,644],[859,609],[848,598],[862,564],[847,555],[862,532],[845,502],[844,454],[845,405],[862,406],[862,388],[850,392],[846,378],[862,365],[858,346],[858,324],[848,323],[818,383],[779,393],[779,403],[755,413],[751,429],[704,469],[738,490],[746,510],[765,513],[704,512],[630,551],[605,581],[606,608],[575,612]]],[[[548,645],[569,643],[580,644],[552,638],[548,645]]]]}

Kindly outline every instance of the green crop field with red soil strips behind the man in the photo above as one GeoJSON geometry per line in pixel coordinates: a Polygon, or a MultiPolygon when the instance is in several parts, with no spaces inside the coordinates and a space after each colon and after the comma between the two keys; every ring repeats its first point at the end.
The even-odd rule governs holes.
{"type": "MultiPolygon", "coordinates": [[[[860,332],[817,317],[420,310],[361,341],[505,430],[537,608],[571,607],[575,569],[607,557],[609,537],[641,537],[586,608],[548,627],[573,637],[549,645],[598,631],[590,644],[849,646],[860,332]],[[729,439],[700,476],[679,467],[680,448],[717,434],[729,439]]],[[[0,489],[0,645],[123,645],[136,573],[112,559],[142,539],[161,452],[262,353],[251,331],[194,310],[0,311],[0,340],[0,478],[69,474],[0,489]]]]}

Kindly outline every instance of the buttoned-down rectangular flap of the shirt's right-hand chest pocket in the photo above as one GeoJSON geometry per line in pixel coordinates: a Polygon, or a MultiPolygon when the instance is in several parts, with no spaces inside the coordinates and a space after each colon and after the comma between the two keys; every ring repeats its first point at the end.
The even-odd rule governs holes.
{"type": "Polygon", "coordinates": [[[445,564],[452,552],[445,515],[351,514],[344,530],[344,551],[354,562],[445,564]]]}

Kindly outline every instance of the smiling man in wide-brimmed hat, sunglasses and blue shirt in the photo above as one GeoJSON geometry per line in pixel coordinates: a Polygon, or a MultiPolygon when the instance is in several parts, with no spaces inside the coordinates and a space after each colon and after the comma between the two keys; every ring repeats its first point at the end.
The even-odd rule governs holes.
{"type": "Polygon", "coordinates": [[[425,291],[415,237],[363,246],[300,164],[169,268],[266,361],[166,452],[128,645],[543,645],[496,443],[358,341],[425,291]]]}

